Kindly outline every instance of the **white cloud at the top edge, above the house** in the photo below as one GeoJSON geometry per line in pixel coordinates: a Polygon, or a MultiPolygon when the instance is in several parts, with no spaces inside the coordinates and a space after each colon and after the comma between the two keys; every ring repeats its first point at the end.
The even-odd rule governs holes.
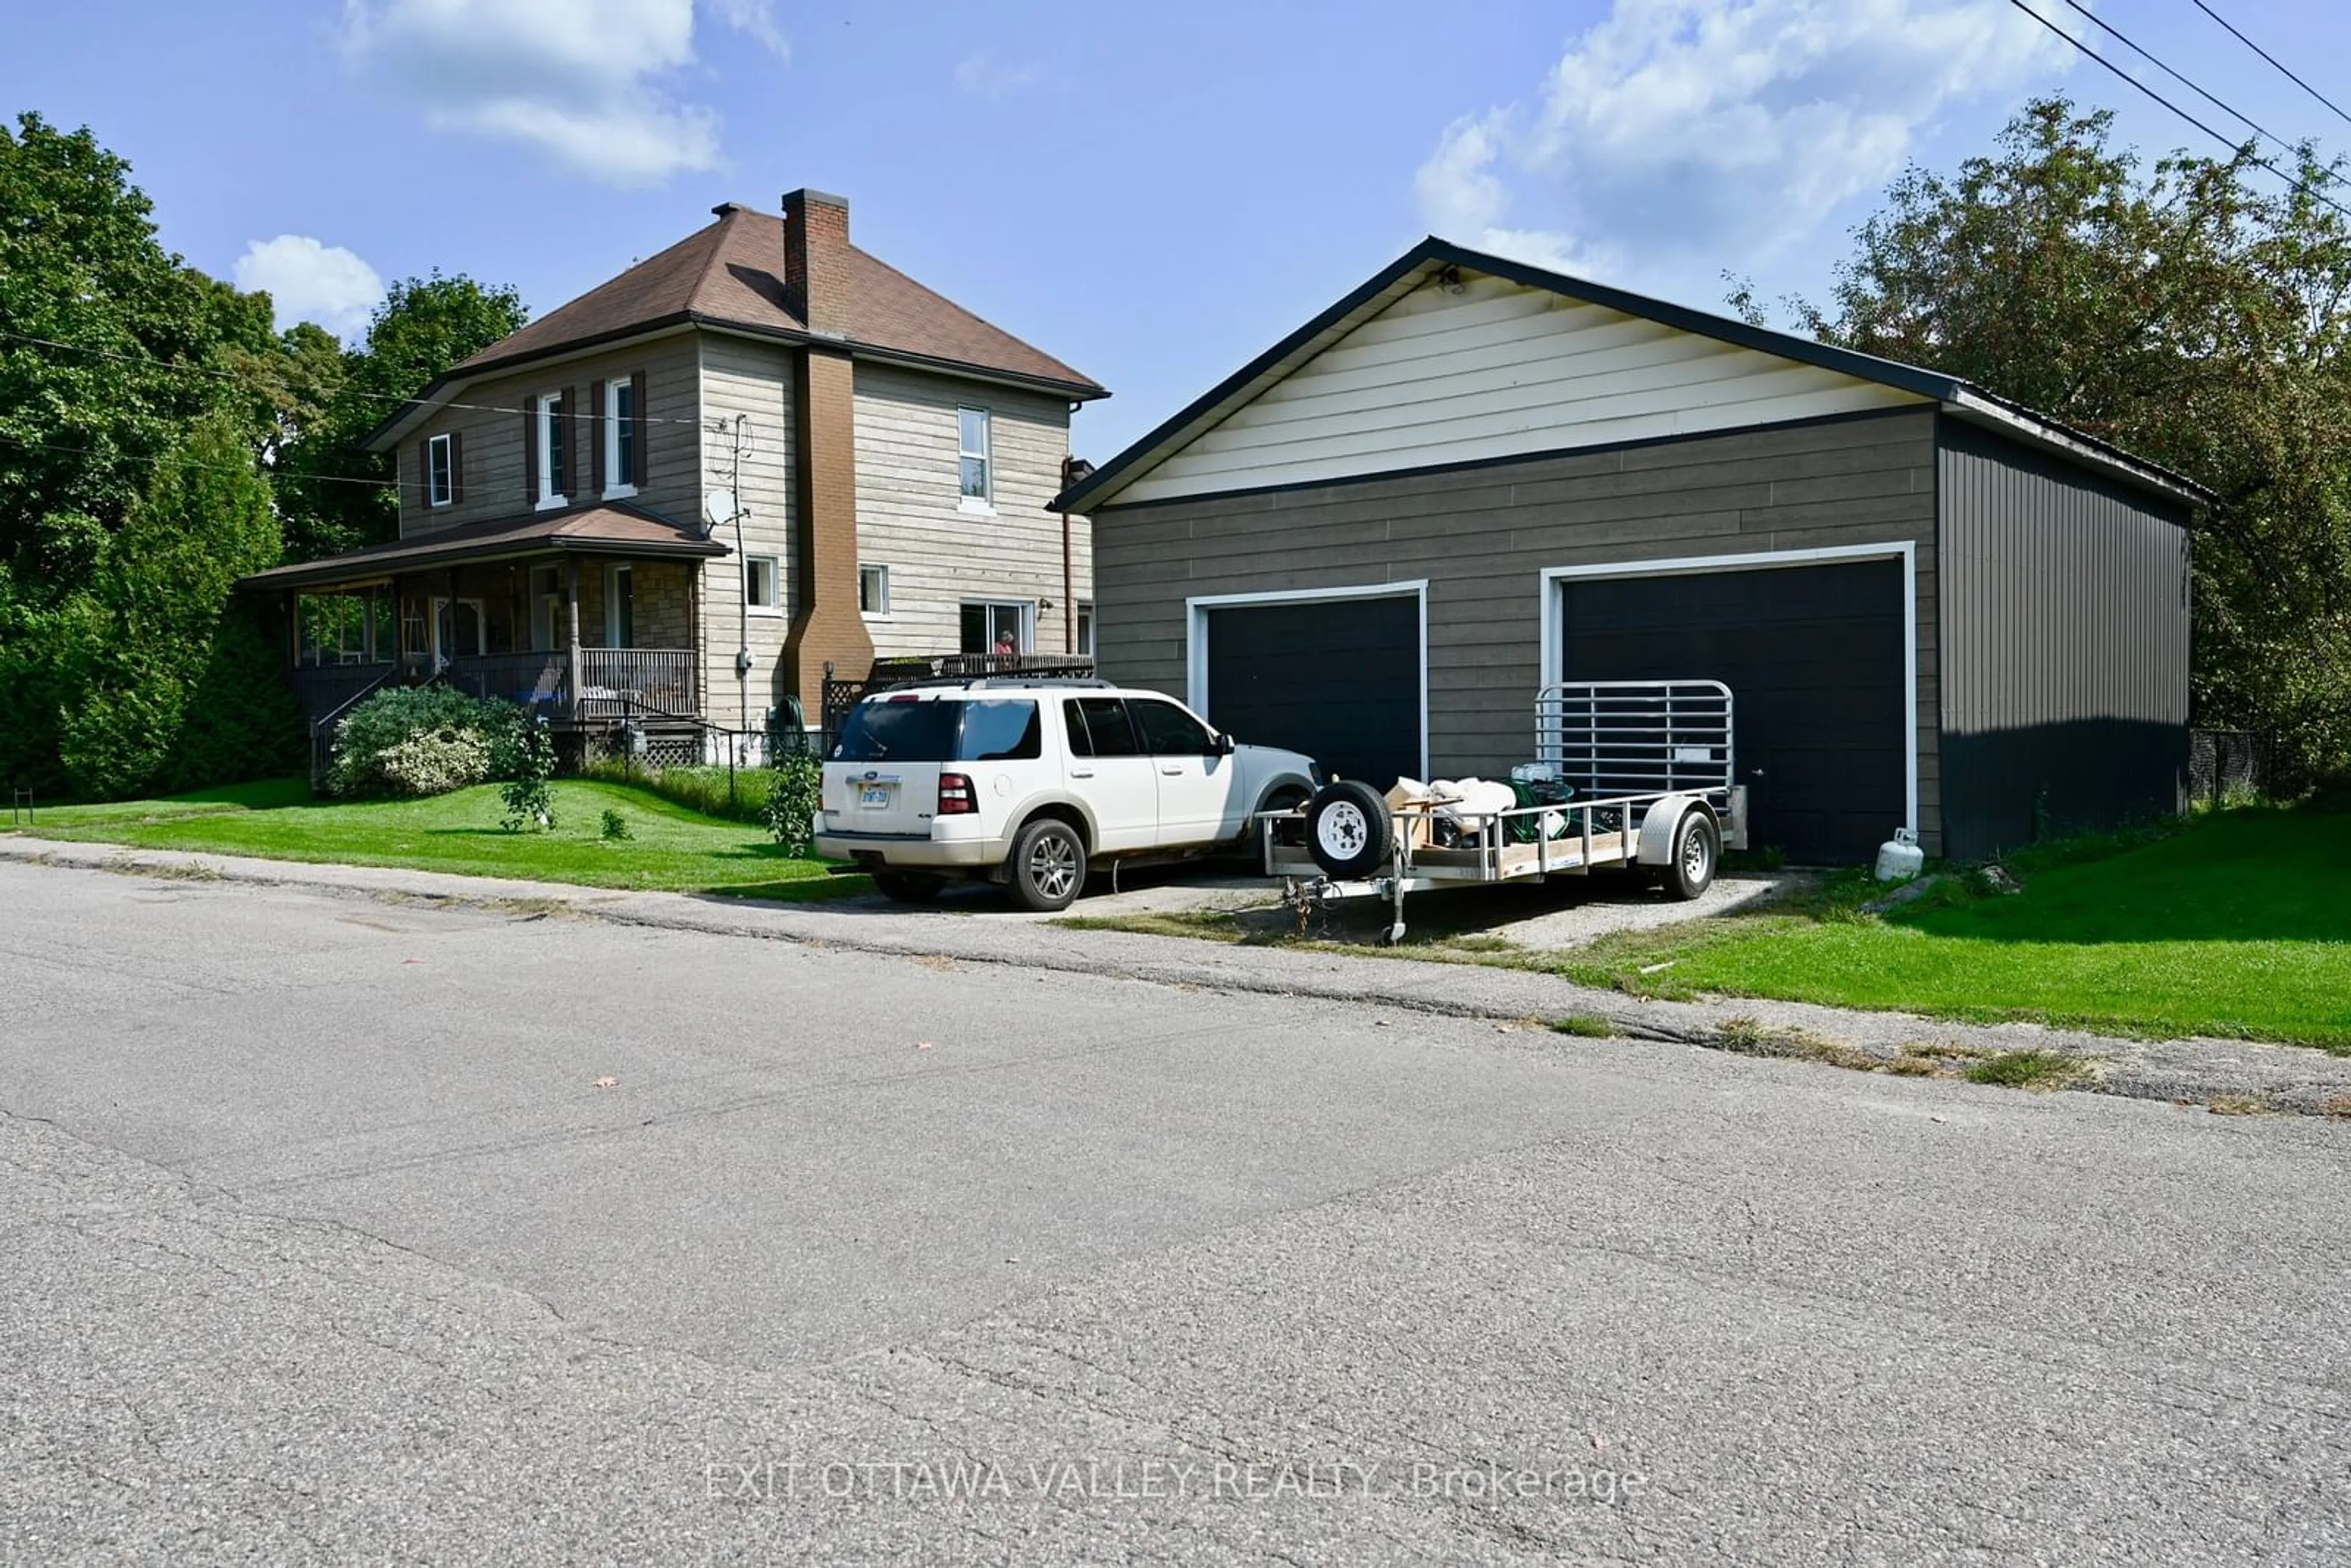
{"type": "MultiPolygon", "coordinates": [[[[715,9],[783,49],[764,0],[715,9]]],[[[607,186],[719,165],[717,115],[661,85],[694,63],[694,0],[346,0],[343,49],[426,125],[534,143],[607,186]]]]}

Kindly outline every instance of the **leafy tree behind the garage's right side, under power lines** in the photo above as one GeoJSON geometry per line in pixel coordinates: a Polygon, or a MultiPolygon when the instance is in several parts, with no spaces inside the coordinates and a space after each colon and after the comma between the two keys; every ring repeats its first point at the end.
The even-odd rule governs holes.
{"type": "MultiPolygon", "coordinates": [[[[1933,364],[2184,473],[2198,722],[2271,731],[2285,766],[2351,766],[2351,221],[2299,148],[2142,172],[2111,113],[2029,103],[1991,155],[1911,167],[1855,230],[1827,343],[1933,364]]],[[[1761,315],[1751,292],[1733,306],[1761,315]]]]}

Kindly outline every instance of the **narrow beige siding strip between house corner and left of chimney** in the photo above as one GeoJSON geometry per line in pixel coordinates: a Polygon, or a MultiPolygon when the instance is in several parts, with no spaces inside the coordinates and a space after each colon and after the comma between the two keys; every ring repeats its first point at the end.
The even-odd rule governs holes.
{"type": "MultiPolygon", "coordinates": [[[[781,701],[776,665],[797,595],[797,550],[792,520],[797,508],[792,463],[792,360],[778,343],[724,336],[701,336],[703,378],[703,475],[712,489],[738,484],[743,508],[743,555],[773,555],[781,604],[776,614],[741,611],[743,562],[736,555],[703,567],[703,712],[715,724],[759,729],[766,710],[781,701]],[[743,418],[743,461],[736,465],[736,416],[743,418]],[[748,642],[745,642],[748,635],[748,642]],[[750,646],[752,672],[736,682],[736,649],[750,646]],[[748,708],[748,712],[745,712],[748,708]]],[[[719,524],[717,541],[734,550],[734,524],[719,524]]],[[[863,675],[863,670],[860,670],[863,675]]]]}

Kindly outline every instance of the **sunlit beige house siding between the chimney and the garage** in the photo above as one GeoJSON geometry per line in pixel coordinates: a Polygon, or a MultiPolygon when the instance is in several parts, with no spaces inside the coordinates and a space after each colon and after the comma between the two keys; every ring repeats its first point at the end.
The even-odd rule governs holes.
{"type": "Polygon", "coordinates": [[[877,656],[952,654],[971,599],[1051,599],[1039,654],[1065,649],[1072,599],[1093,597],[1093,529],[1070,520],[1074,595],[1063,592],[1060,491],[1070,404],[1060,397],[860,362],[856,371],[858,562],[889,567],[877,656]],[[959,505],[957,409],[990,414],[992,512],[959,505]]]}

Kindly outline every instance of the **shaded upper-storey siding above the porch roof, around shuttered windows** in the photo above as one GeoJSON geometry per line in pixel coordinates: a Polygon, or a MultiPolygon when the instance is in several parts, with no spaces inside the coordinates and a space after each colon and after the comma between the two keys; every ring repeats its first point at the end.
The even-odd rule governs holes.
{"type": "MultiPolygon", "coordinates": [[[[414,538],[435,529],[463,522],[491,522],[520,517],[534,510],[524,494],[522,475],[522,411],[541,393],[574,393],[581,409],[588,404],[588,388],[597,381],[623,381],[644,371],[647,423],[639,440],[647,442],[647,484],[630,498],[649,512],[689,520],[701,512],[698,437],[694,418],[701,404],[701,383],[694,353],[694,334],[672,334],[628,348],[583,355],[562,364],[496,376],[461,388],[451,402],[428,416],[416,430],[400,440],[400,536],[414,538]],[[682,423],[665,423],[682,421],[682,423]],[[423,444],[444,433],[461,437],[463,501],[454,505],[426,505],[423,496],[423,444]]],[[[597,430],[597,421],[574,418],[574,482],[571,501],[592,501],[588,494],[592,463],[585,442],[597,430]]]]}

